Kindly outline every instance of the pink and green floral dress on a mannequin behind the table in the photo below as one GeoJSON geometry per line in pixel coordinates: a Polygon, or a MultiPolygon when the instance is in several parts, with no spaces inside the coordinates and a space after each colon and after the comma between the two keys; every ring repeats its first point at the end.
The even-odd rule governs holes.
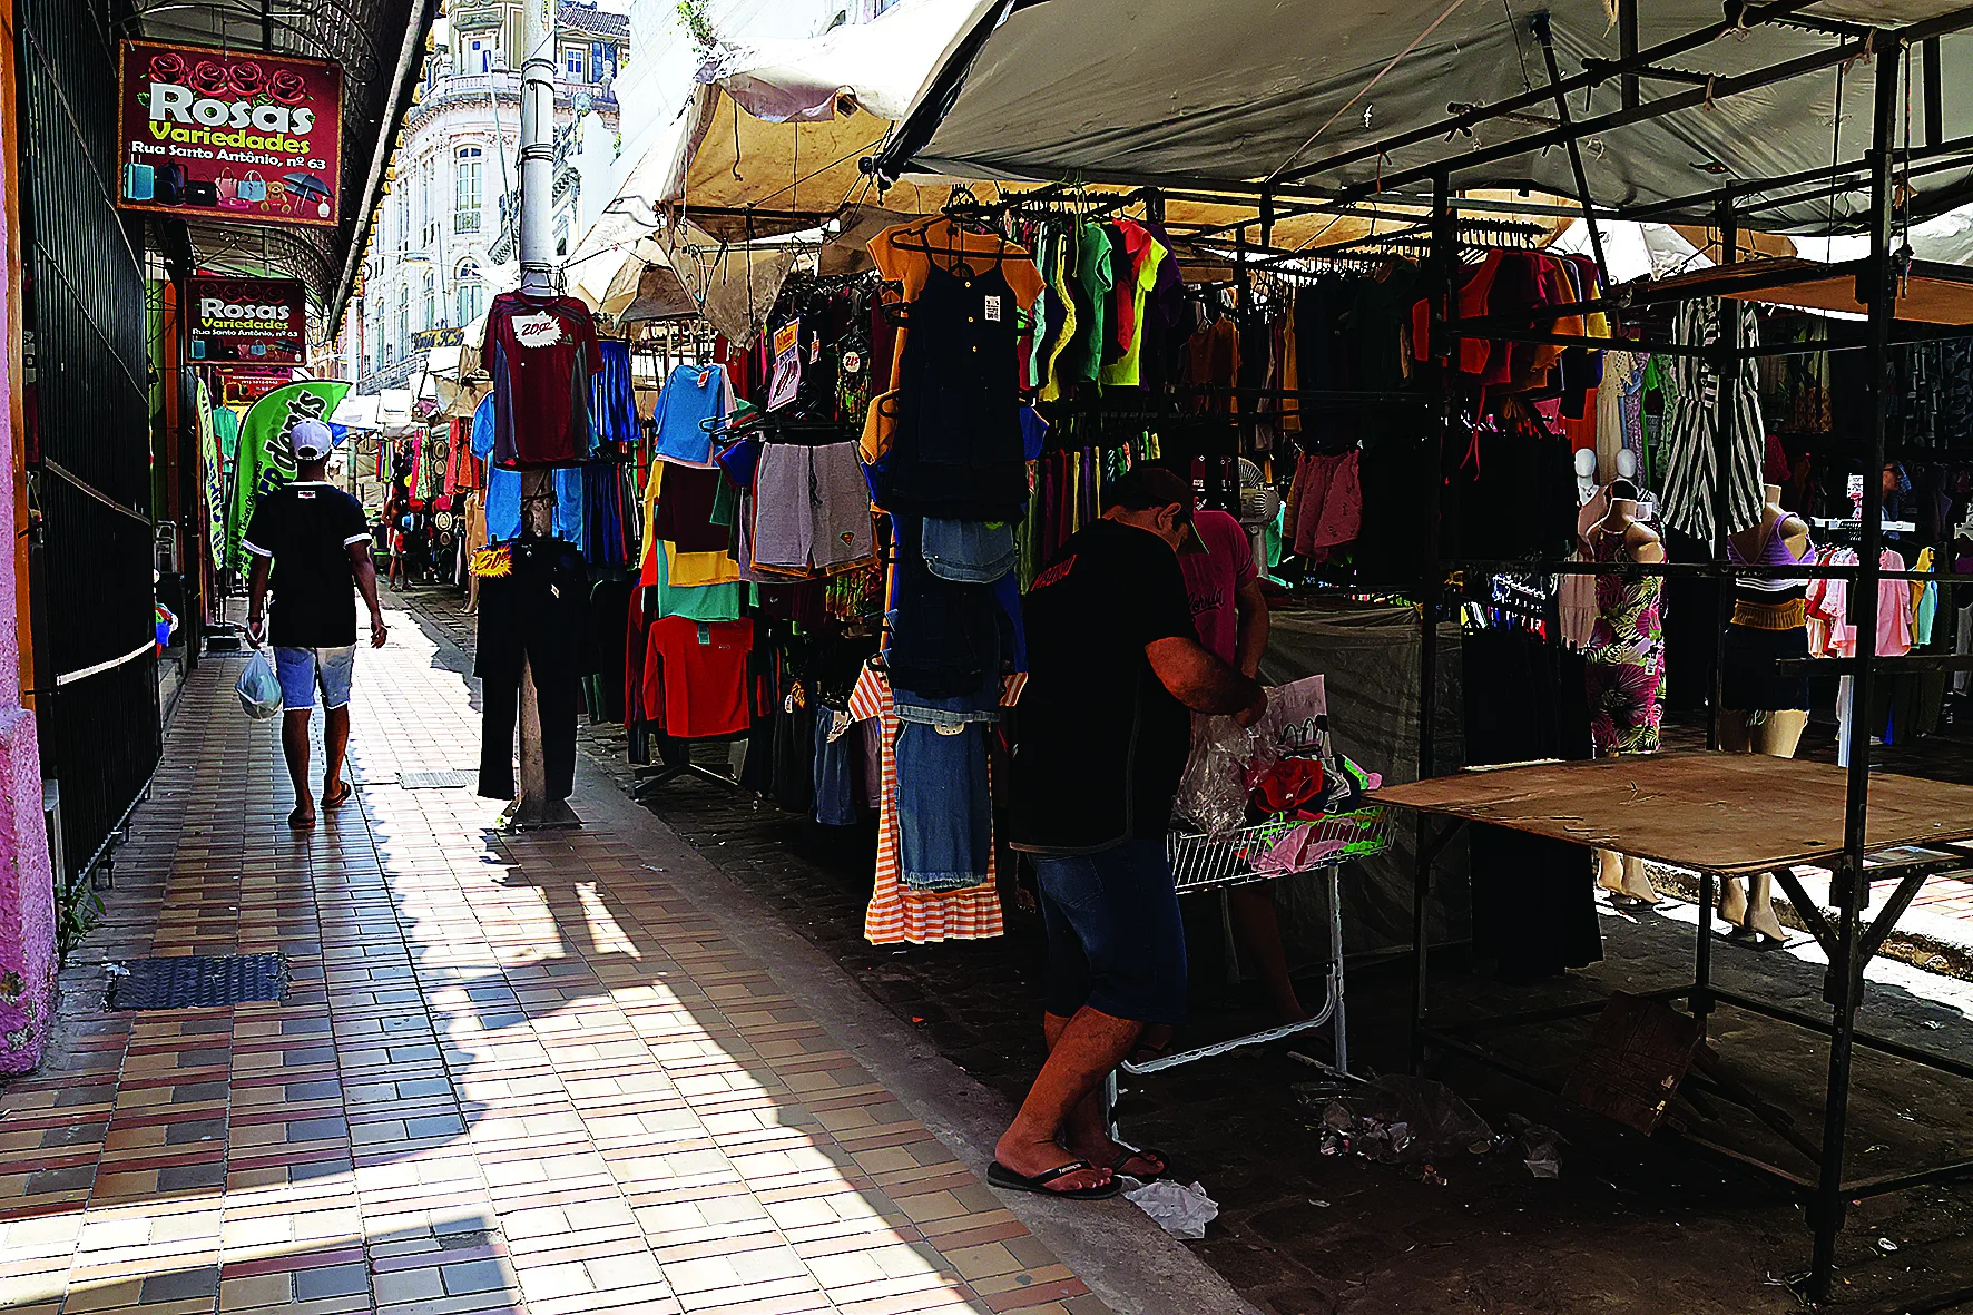
{"type": "MultiPolygon", "coordinates": [[[[1630,561],[1624,531],[1594,525],[1586,547],[1592,561],[1630,561]]],[[[1596,577],[1596,626],[1582,650],[1596,756],[1657,752],[1665,715],[1663,586],[1657,575],[1596,577]]]]}

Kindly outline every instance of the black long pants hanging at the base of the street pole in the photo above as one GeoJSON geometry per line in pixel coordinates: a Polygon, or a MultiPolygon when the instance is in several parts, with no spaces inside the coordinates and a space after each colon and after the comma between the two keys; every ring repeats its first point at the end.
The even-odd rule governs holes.
{"type": "Polygon", "coordinates": [[[481,685],[479,794],[511,800],[513,731],[521,713],[521,667],[535,671],[541,752],[548,796],[576,788],[576,715],[582,677],[594,667],[588,644],[590,582],[582,555],[560,539],[517,541],[509,575],[479,580],[481,685]]]}

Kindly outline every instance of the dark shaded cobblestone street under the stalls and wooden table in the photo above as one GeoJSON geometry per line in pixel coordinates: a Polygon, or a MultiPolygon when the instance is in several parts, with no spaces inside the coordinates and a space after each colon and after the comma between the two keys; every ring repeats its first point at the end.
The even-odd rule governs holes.
{"type": "MultiPolygon", "coordinates": [[[[418,608],[472,644],[470,618],[442,594],[418,608]]],[[[621,731],[586,727],[596,766],[629,782],[621,731]]],[[[696,780],[679,780],[649,804],[698,853],[754,890],[791,928],[850,969],[856,981],[959,1062],[1018,1100],[1040,1062],[1036,1009],[1040,938],[1018,908],[1004,940],[965,946],[876,948],[862,936],[874,837],[829,829],[696,780]]],[[[1200,962],[1190,1037],[1233,1035],[1263,1023],[1255,1001],[1217,983],[1217,910],[1188,900],[1200,962]]],[[[1687,979],[1695,910],[1671,902],[1659,916],[1604,910],[1604,964],[1533,987],[1503,987],[1458,956],[1440,956],[1434,999],[1484,1015],[1594,999],[1687,979]]],[[[1752,956],[1720,950],[1717,977],[1776,1003],[1821,1013],[1821,967],[1811,950],[1752,956]]],[[[1874,1027],[1973,1062],[1967,1019],[1973,989],[1904,964],[1870,971],[1864,1013],[1874,1027]]],[[[1316,987],[1320,989],[1320,987],[1316,987]]],[[[1352,1054],[1357,1066],[1397,1070],[1405,1054],[1409,985],[1403,966],[1352,969],[1352,1054]]],[[[1503,1037],[1519,1062],[1559,1082],[1588,1023],[1503,1037]]],[[[1801,1125],[1819,1125],[1825,1050],[1809,1035],[1756,1015],[1720,1011],[1713,1041],[1730,1072],[1801,1125]]],[[[1280,1048],[1241,1052],[1144,1080],[1129,1092],[1125,1131],[1174,1155],[1182,1181],[1200,1179],[1221,1216],[1194,1250],[1271,1315],[1780,1315],[1797,1309],[1782,1285],[1807,1266],[1797,1202],[1762,1179],[1717,1169],[1691,1151],[1584,1123],[1559,1102],[1490,1070],[1440,1060],[1434,1070],[1492,1118],[1509,1112],[1557,1123],[1569,1137],[1563,1177],[1537,1181],[1513,1155],[1436,1165],[1444,1185],[1395,1167],[1320,1153],[1320,1098],[1302,1100],[1312,1072],[1280,1048]],[[1298,1090],[1300,1088],[1300,1090],[1298,1090]]],[[[1973,1155],[1967,1084],[1864,1054],[1855,1082],[1851,1171],[1898,1171],[1930,1157],[1973,1155]]],[[[1703,1127],[1715,1137],[1807,1165],[1746,1118],[1703,1127]]],[[[1853,1208],[1843,1234],[1845,1283],[1835,1309],[1886,1315],[1904,1291],[1973,1283],[1973,1200],[1961,1189],[1922,1189],[1853,1208]],[[1878,1240],[1898,1250],[1886,1250],[1878,1240]]],[[[1943,1309],[1943,1307],[1939,1307],[1943,1309]]]]}

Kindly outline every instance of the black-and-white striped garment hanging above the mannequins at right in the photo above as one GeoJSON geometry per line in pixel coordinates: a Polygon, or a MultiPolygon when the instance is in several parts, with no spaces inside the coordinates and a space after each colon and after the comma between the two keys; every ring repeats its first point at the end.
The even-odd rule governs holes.
{"type": "MultiPolygon", "coordinates": [[[[1730,302],[1740,324],[1740,346],[1760,342],[1754,308],[1730,302]]],[[[1718,344],[1722,316],[1718,298],[1679,304],[1671,326],[1671,342],[1711,348],[1718,344]]],[[[1659,515],[1667,525],[1695,539],[1713,541],[1713,484],[1718,470],[1718,436],[1715,417],[1730,421],[1726,466],[1726,529],[1738,533],[1760,523],[1762,458],[1768,450],[1768,428],[1760,419],[1756,393],[1756,361],[1744,361],[1728,397],[1720,399],[1720,379],[1713,363],[1679,355],[1671,359],[1671,405],[1665,415],[1663,488],[1657,490],[1659,515]]]]}

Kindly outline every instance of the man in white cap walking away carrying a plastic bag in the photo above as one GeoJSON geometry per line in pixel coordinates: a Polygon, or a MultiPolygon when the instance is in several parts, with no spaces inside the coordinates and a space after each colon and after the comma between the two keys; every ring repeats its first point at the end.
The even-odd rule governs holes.
{"type": "Polygon", "coordinates": [[[247,582],[247,638],[255,648],[274,644],[274,671],[280,675],[280,750],[294,780],[288,825],[306,831],[316,825],[316,802],[308,794],[308,719],[316,709],[316,689],[328,711],[322,725],[328,756],[322,808],[335,810],[349,802],[343,750],[349,746],[349,675],[357,652],[351,584],[363,590],[371,610],[371,648],[383,648],[389,630],[377,606],[377,567],[369,557],[371,531],[363,505],[324,480],[335,444],[329,426],[302,421],[290,442],[296,478],[255,505],[241,547],[255,559],[247,582]],[[274,592],[272,628],[266,624],[268,586],[274,592]]]}

